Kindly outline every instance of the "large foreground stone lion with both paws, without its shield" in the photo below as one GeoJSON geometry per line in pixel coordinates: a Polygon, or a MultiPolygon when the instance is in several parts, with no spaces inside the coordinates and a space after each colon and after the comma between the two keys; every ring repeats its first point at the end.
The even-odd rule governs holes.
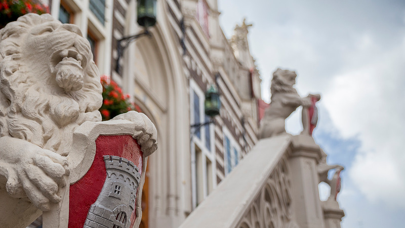
{"type": "MultiPolygon", "coordinates": [[[[61,201],[73,131],[101,121],[101,92],[90,44],[77,26],[27,14],[0,30],[0,227],[25,227],[61,201]]],[[[152,130],[140,144],[154,151],[149,122],[142,122],[152,130]]]]}

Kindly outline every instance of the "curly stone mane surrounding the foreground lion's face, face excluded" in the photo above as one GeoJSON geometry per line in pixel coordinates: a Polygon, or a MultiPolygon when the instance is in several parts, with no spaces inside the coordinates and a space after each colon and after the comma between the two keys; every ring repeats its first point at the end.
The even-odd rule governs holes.
{"type": "Polygon", "coordinates": [[[21,61],[22,44],[31,28],[50,21],[56,20],[49,14],[27,14],[0,30],[0,136],[67,156],[73,130],[85,121],[101,121],[102,87],[93,60],[84,69],[83,88],[63,93],[46,89],[53,80],[50,72],[35,75],[21,61]]]}

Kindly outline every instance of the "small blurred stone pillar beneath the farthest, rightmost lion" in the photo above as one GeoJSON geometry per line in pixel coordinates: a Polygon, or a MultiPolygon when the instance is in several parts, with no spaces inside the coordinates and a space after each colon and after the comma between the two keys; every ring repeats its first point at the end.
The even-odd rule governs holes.
{"type": "Polygon", "coordinates": [[[325,228],[340,228],[342,217],[345,212],[340,209],[339,203],[328,200],[321,202],[323,209],[323,217],[325,218],[325,228]]]}

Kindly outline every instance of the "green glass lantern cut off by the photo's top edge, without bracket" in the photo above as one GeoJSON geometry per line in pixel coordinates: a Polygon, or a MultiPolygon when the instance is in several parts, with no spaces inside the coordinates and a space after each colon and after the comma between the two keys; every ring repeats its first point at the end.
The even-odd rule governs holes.
{"type": "Polygon", "coordinates": [[[138,24],[150,27],[156,23],[156,0],[138,0],[138,24]]]}

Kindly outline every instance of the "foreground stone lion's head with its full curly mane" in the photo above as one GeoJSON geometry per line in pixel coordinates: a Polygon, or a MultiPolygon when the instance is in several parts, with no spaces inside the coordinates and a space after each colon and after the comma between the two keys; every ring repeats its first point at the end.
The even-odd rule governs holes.
{"type": "Polygon", "coordinates": [[[101,121],[101,92],[77,26],[27,14],[0,30],[0,136],[66,156],[74,128],[101,121]]]}

